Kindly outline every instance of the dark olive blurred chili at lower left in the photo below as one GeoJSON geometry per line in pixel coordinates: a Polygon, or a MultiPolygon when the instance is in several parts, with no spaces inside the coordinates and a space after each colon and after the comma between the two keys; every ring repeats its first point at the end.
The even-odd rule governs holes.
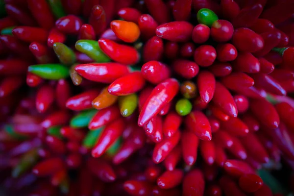
{"type": "Polygon", "coordinates": [[[35,165],[39,156],[36,149],[26,152],[20,162],[12,170],[12,177],[19,177],[35,165]]]}

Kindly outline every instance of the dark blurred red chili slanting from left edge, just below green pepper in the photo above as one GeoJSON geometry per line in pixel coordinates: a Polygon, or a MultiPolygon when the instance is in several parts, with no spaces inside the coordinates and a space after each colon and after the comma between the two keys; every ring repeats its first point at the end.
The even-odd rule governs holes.
{"type": "Polygon", "coordinates": [[[28,46],[12,35],[0,35],[0,41],[12,53],[21,56],[25,60],[30,61],[34,58],[32,53],[29,51],[28,46]]]}

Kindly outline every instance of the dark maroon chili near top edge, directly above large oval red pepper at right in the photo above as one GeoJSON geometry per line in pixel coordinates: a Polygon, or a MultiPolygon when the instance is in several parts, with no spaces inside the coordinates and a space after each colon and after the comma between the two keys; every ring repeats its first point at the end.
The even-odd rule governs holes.
{"type": "Polygon", "coordinates": [[[240,10],[239,14],[232,20],[235,28],[249,27],[253,25],[263,11],[263,5],[260,3],[245,7],[240,10]]]}

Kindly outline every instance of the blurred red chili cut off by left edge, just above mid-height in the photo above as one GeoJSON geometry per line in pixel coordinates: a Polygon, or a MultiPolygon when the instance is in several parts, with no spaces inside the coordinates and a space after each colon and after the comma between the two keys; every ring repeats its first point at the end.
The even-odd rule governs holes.
{"type": "Polygon", "coordinates": [[[19,76],[3,78],[0,82],[0,98],[10,95],[14,91],[18,90],[24,83],[25,81],[23,78],[19,76]]]}

